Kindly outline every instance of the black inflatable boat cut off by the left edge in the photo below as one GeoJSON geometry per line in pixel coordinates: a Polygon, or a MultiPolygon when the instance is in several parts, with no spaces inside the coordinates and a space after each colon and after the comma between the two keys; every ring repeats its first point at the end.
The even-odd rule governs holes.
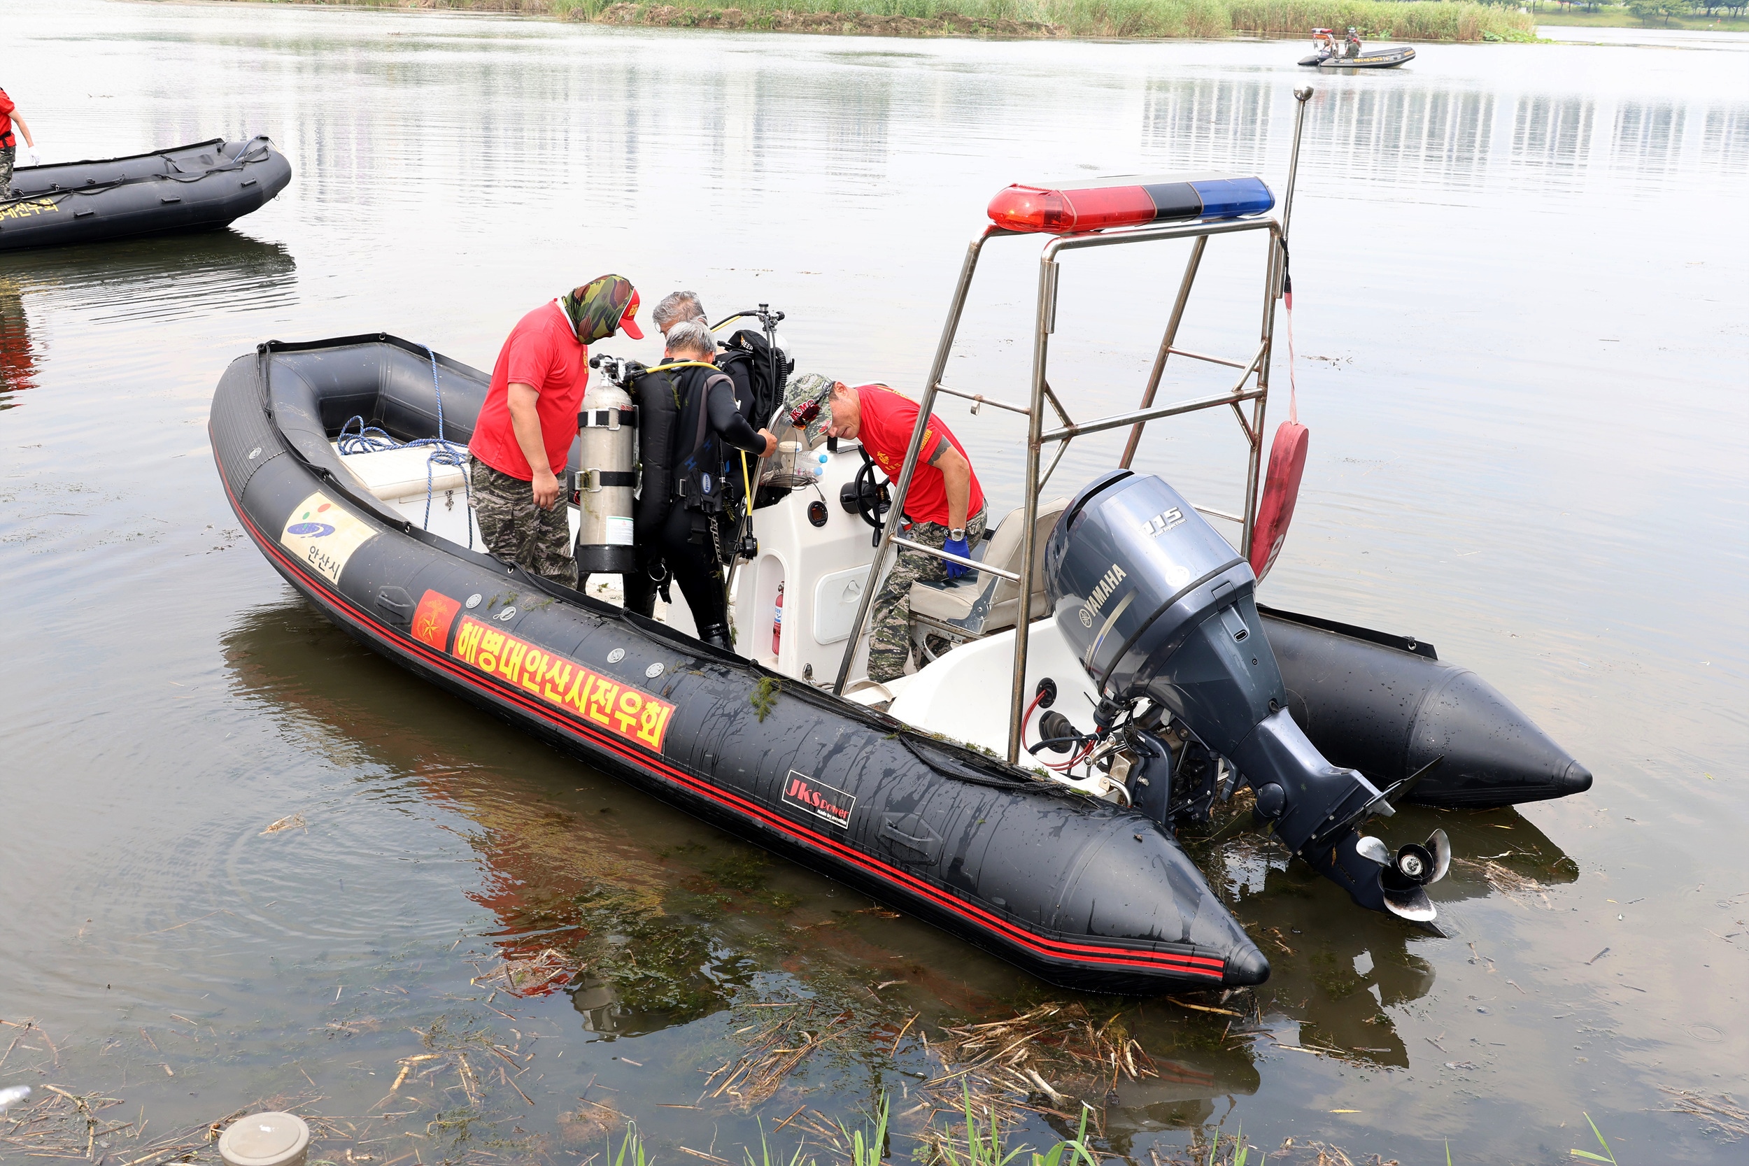
{"type": "Polygon", "coordinates": [[[224,227],[276,196],[292,164],[268,138],[12,171],[0,250],[224,227]]]}

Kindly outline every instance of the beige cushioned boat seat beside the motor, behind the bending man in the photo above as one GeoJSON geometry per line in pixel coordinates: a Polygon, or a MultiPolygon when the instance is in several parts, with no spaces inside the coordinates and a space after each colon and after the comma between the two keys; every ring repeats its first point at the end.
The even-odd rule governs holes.
{"type": "MultiPolygon", "coordinates": [[[[1039,503],[1039,517],[1034,523],[1037,535],[1032,542],[1030,619],[1049,615],[1049,601],[1044,596],[1044,544],[1067,509],[1069,498],[1039,503]]],[[[979,561],[1018,573],[1023,531],[1025,510],[1016,507],[995,528],[979,561]]],[[[1018,614],[1020,584],[1000,575],[967,572],[950,582],[911,584],[911,643],[918,649],[920,661],[936,657],[927,645],[930,636],[944,636],[953,643],[978,640],[1013,628],[1018,614]]]]}

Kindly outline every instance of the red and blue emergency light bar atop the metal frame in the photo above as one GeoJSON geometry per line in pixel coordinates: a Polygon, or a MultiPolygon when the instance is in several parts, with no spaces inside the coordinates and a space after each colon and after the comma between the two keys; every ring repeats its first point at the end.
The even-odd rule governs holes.
{"type": "Polygon", "coordinates": [[[1009,231],[1069,234],[1191,219],[1244,219],[1273,208],[1275,194],[1256,177],[1118,175],[1051,187],[1011,185],[990,199],[990,220],[1009,231]]]}

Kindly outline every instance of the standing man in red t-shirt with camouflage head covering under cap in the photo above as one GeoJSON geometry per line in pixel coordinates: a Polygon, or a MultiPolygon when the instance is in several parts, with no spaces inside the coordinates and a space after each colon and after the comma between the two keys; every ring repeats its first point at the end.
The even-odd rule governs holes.
{"type": "Polygon", "coordinates": [[[637,311],[631,281],[603,274],[518,320],[467,444],[486,551],[567,587],[577,586],[577,561],[560,474],[589,385],[589,343],[619,330],[644,339],[637,311]]]}

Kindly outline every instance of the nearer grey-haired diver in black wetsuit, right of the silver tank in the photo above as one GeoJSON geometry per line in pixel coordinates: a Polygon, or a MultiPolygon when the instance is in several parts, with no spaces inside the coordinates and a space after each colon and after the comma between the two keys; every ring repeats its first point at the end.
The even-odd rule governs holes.
{"type": "MultiPolygon", "coordinates": [[[[680,418],[673,428],[673,507],[661,528],[661,552],[668,572],[680,584],[686,605],[693,608],[698,638],[726,652],[729,638],[728,596],[722,565],[717,558],[726,521],[728,482],[724,467],[729,449],[745,449],[770,458],[777,453],[771,430],[756,430],[735,402],[735,385],[728,372],[712,364],[717,341],[703,318],[680,320],[668,329],[665,369],[672,369],[680,418]]],[[[642,538],[642,533],[640,533],[642,538]]]]}

